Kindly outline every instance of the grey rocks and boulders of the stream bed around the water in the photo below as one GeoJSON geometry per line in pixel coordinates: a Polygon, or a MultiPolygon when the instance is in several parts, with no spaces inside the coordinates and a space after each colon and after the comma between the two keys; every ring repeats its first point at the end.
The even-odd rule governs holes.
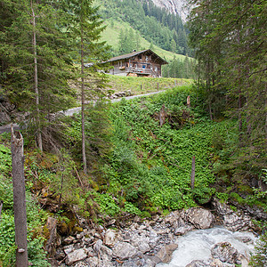
{"type": "MultiPolygon", "coordinates": [[[[53,251],[52,266],[92,266],[92,267],[137,267],[146,266],[248,266],[249,254],[238,251],[230,241],[223,241],[211,247],[211,255],[205,260],[195,259],[186,265],[170,263],[179,239],[190,231],[205,230],[214,225],[223,225],[216,231],[249,231],[256,233],[253,223],[256,218],[266,220],[267,214],[260,210],[233,211],[230,206],[214,199],[209,209],[191,207],[188,210],[174,211],[166,217],[158,214],[150,220],[136,216],[124,227],[117,227],[116,220],[109,226],[83,227],[68,237],[60,237],[56,230],[56,220],[49,218],[47,228],[50,239],[46,249],[53,251]],[[167,263],[167,264],[166,264],[167,263]]],[[[230,232],[231,233],[231,232],[230,232]]],[[[254,235],[240,236],[240,242],[254,246],[254,235]]]]}

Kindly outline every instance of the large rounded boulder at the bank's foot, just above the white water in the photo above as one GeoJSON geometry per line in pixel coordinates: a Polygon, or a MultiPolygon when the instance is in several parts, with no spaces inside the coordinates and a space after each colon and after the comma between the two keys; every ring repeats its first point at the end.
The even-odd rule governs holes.
{"type": "Polygon", "coordinates": [[[210,228],[214,221],[214,215],[207,209],[191,207],[186,211],[187,220],[198,229],[210,228]]]}

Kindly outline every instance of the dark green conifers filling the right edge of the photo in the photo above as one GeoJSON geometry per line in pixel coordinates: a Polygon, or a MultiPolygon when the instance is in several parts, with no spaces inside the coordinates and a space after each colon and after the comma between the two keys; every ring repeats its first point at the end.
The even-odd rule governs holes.
{"type": "Polygon", "coordinates": [[[198,90],[211,118],[239,120],[226,166],[236,182],[262,181],[266,167],[266,3],[193,0],[190,42],[198,90]]]}

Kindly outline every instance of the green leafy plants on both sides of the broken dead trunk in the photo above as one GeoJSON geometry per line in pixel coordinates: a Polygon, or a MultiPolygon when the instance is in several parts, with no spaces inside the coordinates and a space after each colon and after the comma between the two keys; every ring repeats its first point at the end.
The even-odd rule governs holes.
{"type": "MultiPolygon", "coordinates": [[[[15,231],[14,216],[12,211],[12,181],[11,174],[11,151],[0,144],[0,196],[4,201],[0,219],[0,265],[14,266],[15,262],[15,231]]],[[[43,249],[44,237],[42,225],[46,214],[38,209],[36,201],[27,190],[27,222],[28,222],[28,260],[33,266],[48,266],[43,249]]]]}

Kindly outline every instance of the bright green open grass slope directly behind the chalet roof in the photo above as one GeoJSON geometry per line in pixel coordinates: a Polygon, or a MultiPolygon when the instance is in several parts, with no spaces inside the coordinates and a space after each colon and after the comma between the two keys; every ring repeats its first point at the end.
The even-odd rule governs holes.
{"type": "MultiPolygon", "coordinates": [[[[123,29],[130,29],[132,28],[129,23],[122,21],[122,20],[114,20],[109,19],[104,21],[104,25],[106,28],[103,30],[101,34],[101,41],[106,41],[107,44],[113,47],[114,50],[118,50],[118,36],[120,31],[123,29]],[[111,22],[113,21],[113,22],[111,22]],[[113,27],[111,27],[113,23],[113,27]]],[[[136,34],[136,30],[134,30],[134,35],[136,34]]],[[[141,34],[140,34],[141,36],[141,34]]],[[[149,49],[150,48],[150,42],[147,41],[144,37],[140,37],[140,51],[149,49]]],[[[176,59],[184,60],[185,56],[178,53],[173,53],[170,51],[166,51],[157,45],[153,44],[153,52],[157,53],[161,58],[166,59],[166,61],[171,61],[174,59],[174,56],[176,59]]]]}

